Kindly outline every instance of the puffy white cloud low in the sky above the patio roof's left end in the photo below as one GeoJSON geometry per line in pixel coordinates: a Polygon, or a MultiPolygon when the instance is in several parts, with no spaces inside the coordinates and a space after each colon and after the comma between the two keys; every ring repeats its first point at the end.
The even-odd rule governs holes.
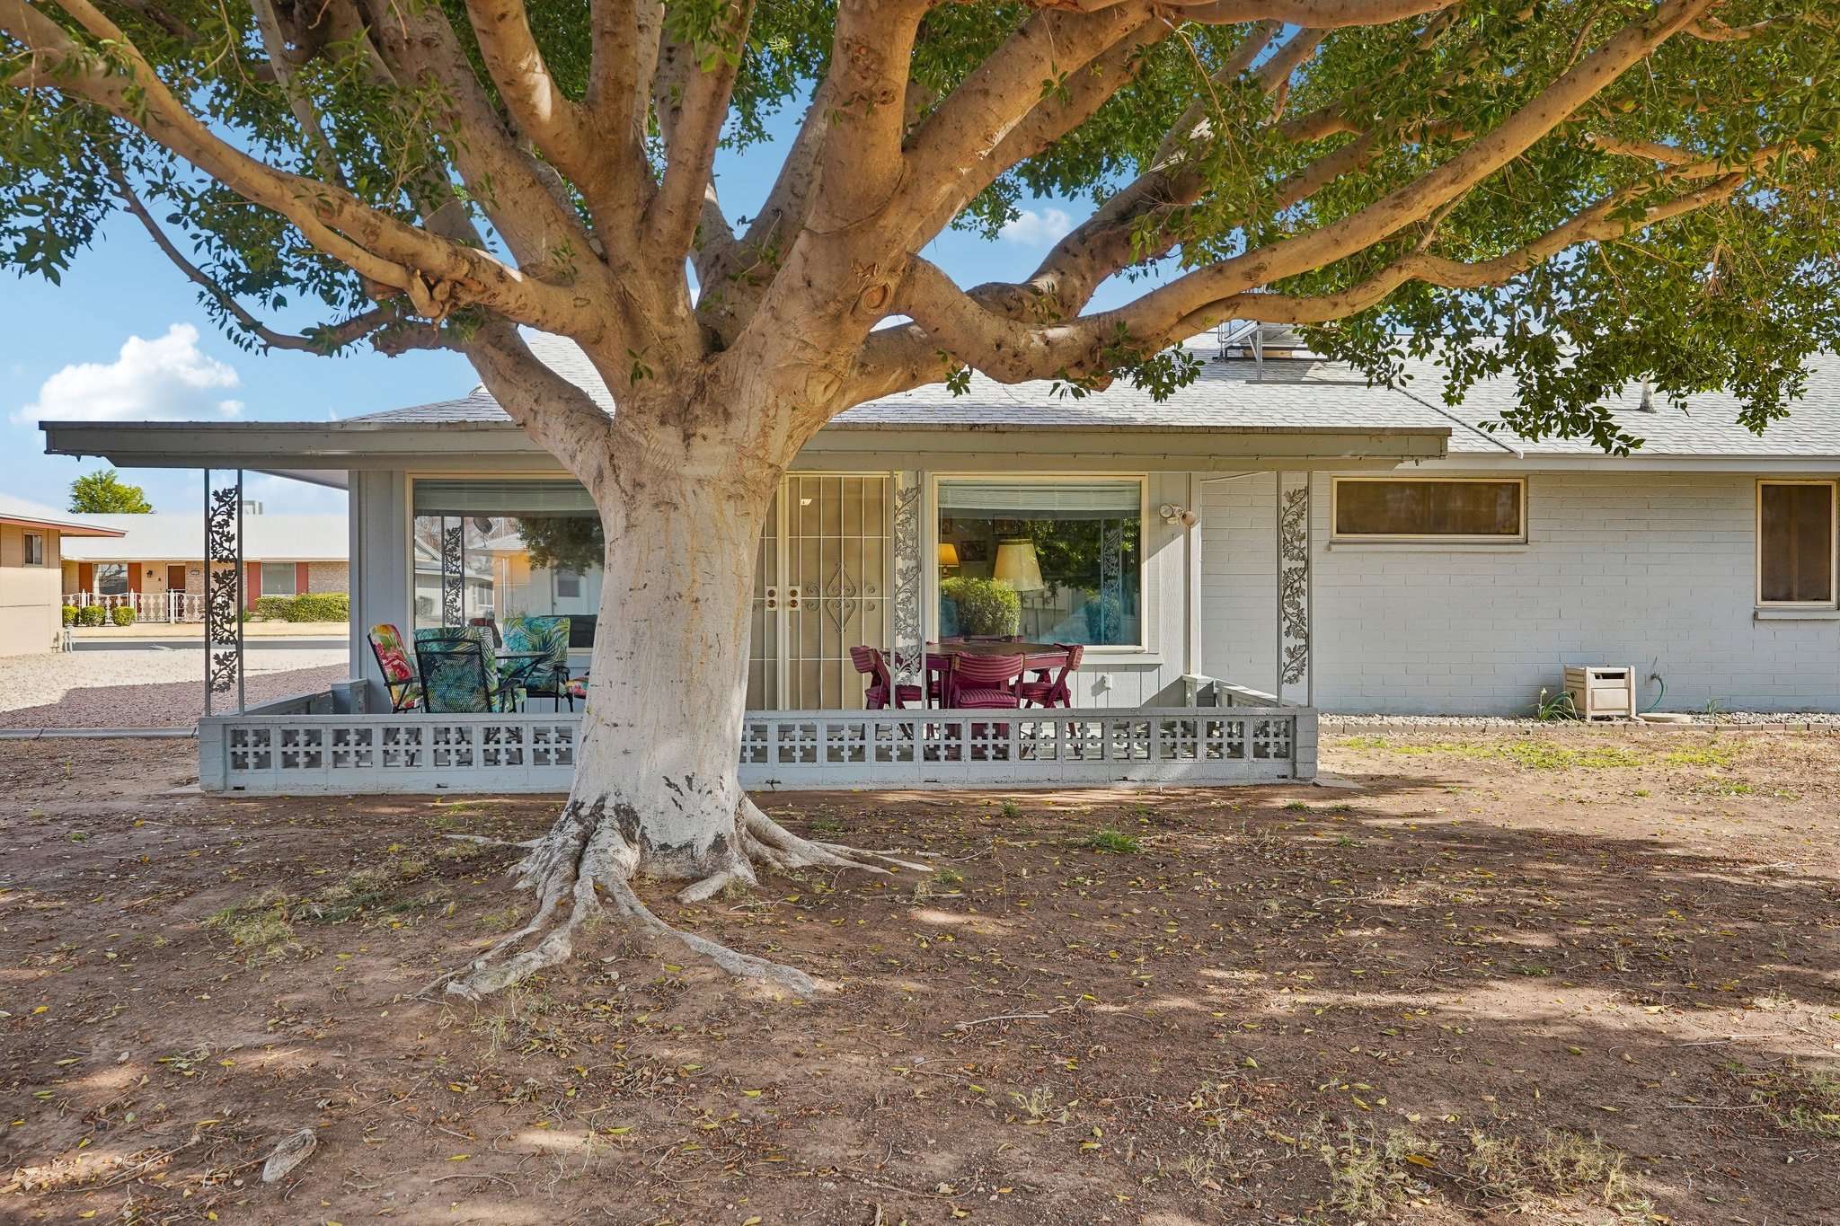
{"type": "Polygon", "coordinates": [[[243,412],[243,401],[219,395],[239,382],[236,369],[199,351],[199,329],[173,324],[155,340],[129,336],[114,362],[57,371],[13,421],[217,421],[243,412]]]}

